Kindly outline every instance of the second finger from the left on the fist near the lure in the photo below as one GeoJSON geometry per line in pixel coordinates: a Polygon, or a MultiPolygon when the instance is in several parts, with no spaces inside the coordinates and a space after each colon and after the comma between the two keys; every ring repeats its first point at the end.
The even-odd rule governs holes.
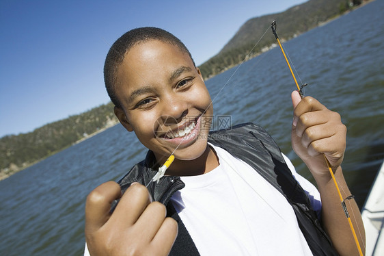
{"type": "Polygon", "coordinates": [[[116,206],[109,220],[110,225],[132,226],[151,202],[152,197],[148,189],[139,183],[132,183],[116,206]],[[122,223],[121,220],[124,222],[122,223]]]}

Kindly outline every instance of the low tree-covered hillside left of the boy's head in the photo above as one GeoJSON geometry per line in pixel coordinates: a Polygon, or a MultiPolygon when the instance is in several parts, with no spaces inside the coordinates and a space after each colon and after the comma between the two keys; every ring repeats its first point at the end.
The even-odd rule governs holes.
{"type": "Polygon", "coordinates": [[[29,133],[4,136],[0,138],[0,180],[116,123],[113,104],[108,103],[29,133]]]}

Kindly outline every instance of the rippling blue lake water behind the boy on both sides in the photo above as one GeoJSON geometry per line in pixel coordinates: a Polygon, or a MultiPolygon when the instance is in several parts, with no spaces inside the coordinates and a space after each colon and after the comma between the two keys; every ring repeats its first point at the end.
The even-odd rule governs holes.
{"type": "MultiPolygon", "coordinates": [[[[284,44],[310,84],[306,93],[339,112],[348,127],[343,169],[360,207],[384,158],[383,10],[384,1],[374,1],[284,44]]],[[[230,115],[232,125],[262,125],[312,180],[290,149],[295,86],[282,53],[273,49],[245,62],[228,81],[235,70],[206,82],[215,114],[230,115]]],[[[0,255],[81,255],[87,194],[145,154],[135,135],[117,125],[0,181],[0,255]]]]}

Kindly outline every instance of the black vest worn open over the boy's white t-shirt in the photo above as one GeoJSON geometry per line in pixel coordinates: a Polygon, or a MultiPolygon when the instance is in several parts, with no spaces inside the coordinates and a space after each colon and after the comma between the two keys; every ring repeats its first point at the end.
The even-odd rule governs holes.
{"type": "MultiPolygon", "coordinates": [[[[247,123],[230,129],[210,132],[208,142],[225,149],[234,157],[249,164],[286,197],[294,209],[301,232],[313,255],[338,255],[328,235],[321,227],[307,194],[294,179],[292,172],[284,162],[279,146],[269,133],[258,125],[247,123]]],[[[133,182],[148,184],[156,174],[156,170],[150,166],[154,166],[152,151],[148,152],[143,162],[135,165],[127,175],[118,181],[122,191],[124,192],[133,182]]],[[[199,255],[180,216],[172,203],[169,203],[172,194],[181,188],[184,188],[184,183],[180,177],[176,176],[165,176],[159,183],[152,182],[148,186],[154,200],[167,206],[167,216],[171,216],[178,222],[178,237],[169,255],[199,255]]],[[[114,207],[115,205],[113,209],[114,207]]]]}

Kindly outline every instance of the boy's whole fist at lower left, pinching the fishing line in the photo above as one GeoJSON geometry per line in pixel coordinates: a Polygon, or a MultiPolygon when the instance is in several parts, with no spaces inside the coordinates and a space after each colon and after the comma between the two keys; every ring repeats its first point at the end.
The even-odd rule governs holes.
{"type": "Polygon", "coordinates": [[[143,185],[133,183],[122,196],[118,183],[103,183],[87,196],[85,205],[90,255],[168,255],[178,225],[165,216],[165,206],[152,202],[143,185]],[[111,214],[111,203],[120,197],[111,214]]]}

